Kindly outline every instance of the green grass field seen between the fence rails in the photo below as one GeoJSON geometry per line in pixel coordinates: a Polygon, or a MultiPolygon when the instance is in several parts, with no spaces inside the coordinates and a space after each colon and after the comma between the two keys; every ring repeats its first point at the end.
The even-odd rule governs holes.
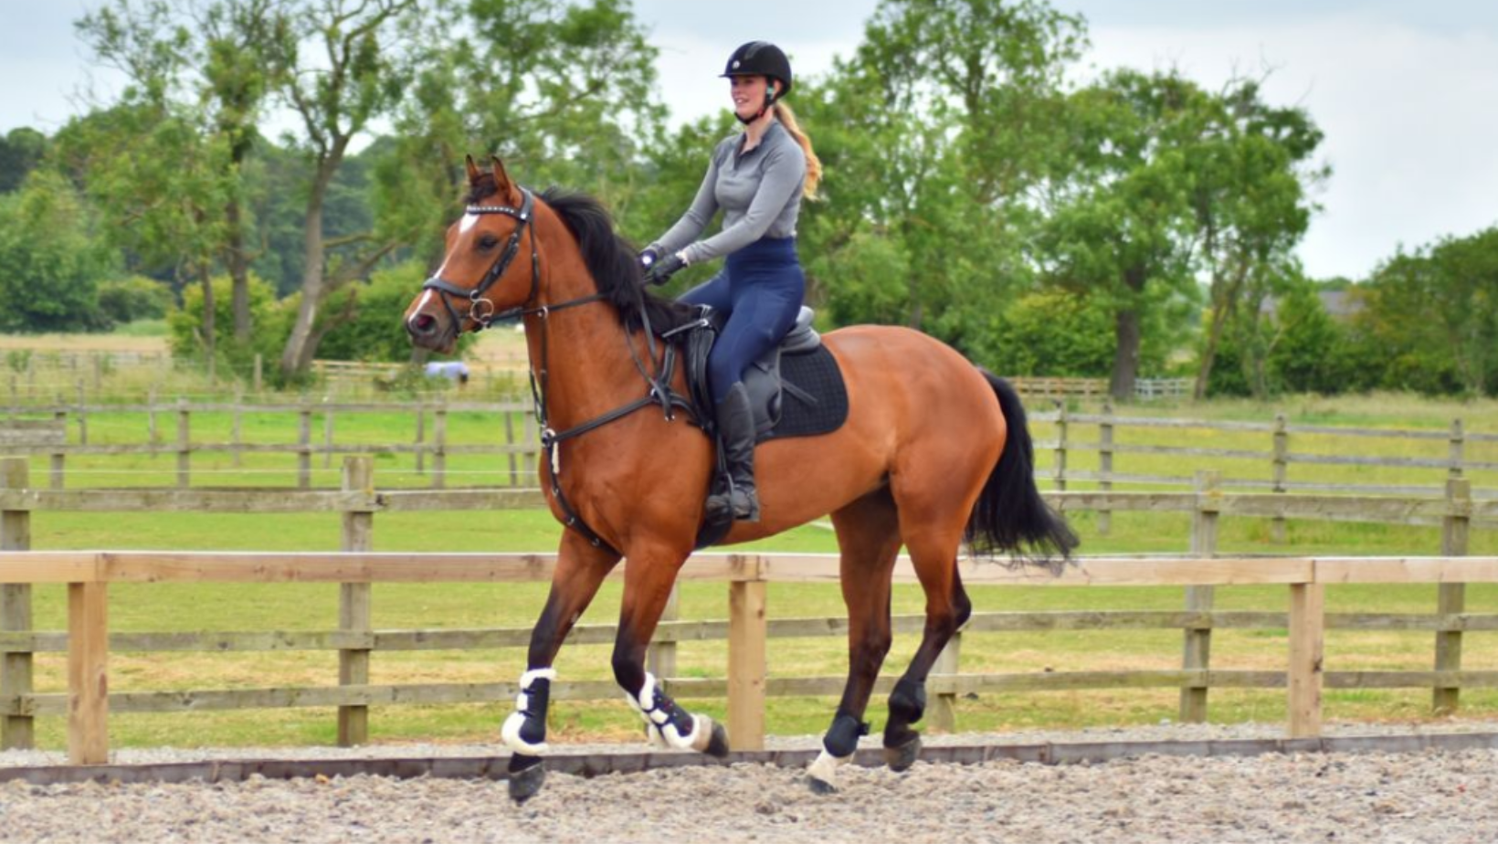
{"type": "MultiPolygon", "coordinates": [[[[512,340],[508,340],[512,342],[512,340]]],[[[1034,403],[1032,411],[1047,409],[1034,403]]],[[[1074,408],[1092,411],[1094,408],[1074,408]]],[[[1206,420],[1267,421],[1284,411],[1293,424],[1344,424],[1363,427],[1420,427],[1444,430],[1462,417],[1468,432],[1498,432],[1498,403],[1443,403],[1405,396],[1354,399],[1288,399],[1278,406],[1249,402],[1213,402],[1182,406],[1132,406],[1126,415],[1170,415],[1206,420]]],[[[166,441],[174,436],[174,420],[162,418],[166,441]]],[[[244,418],[247,442],[292,442],[292,415],[244,418]]],[[[321,441],[321,417],[313,421],[313,438],[321,441]]],[[[515,426],[520,430],[520,426],[515,426]]],[[[228,441],[228,414],[195,414],[193,439],[228,441]]],[[[88,418],[90,442],[142,442],[144,414],[96,414],[88,418]]],[[[481,414],[452,414],[449,442],[494,442],[502,424],[481,414]]],[[[410,442],[410,412],[340,415],[339,442],[410,442]]],[[[1035,426],[1037,439],[1055,436],[1047,423],[1035,426]]],[[[430,436],[430,430],[428,430],[430,436]]],[[[1074,424],[1073,441],[1097,441],[1095,426],[1074,424]]],[[[1261,433],[1221,433],[1206,430],[1131,429],[1119,438],[1132,444],[1173,444],[1201,448],[1269,450],[1261,433]]],[[[1293,451],[1362,453],[1444,457],[1443,441],[1342,441],[1333,435],[1297,435],[1293,451]]],[[[1470,444],[1468,456],[1498,462],[1495,444],[1470,444]]],[[[1041,471],[1049,469],[1050,454],[1041,451],[1041,471]]],[[[449,460],[454,466],[455,460],[449,460]]],[[[1097,466],[1097,454],[1076,451],[1068,456],[1073,469],[1097,466]]],[[[157,457],[69,459],[67,486],[171,486],[175,471],[172,454],[157,457]]],[[[337,465],[315,463],[315,484],[337,483],[337,465]]],[[[1218,468],[1228,477],[1269,478],[1269,463],[1257,460],[1188,460],[1174,456],[1119,456],[1115,469],[1140,474],[1189,475],[1195,469],[1218,468]]],[[[503,457],[464,459],[461,474],[449,486],[508,483],[503,457]]],[[[196,456],[195,486],[289,486],[294,459],[289,456],[244,456],[238,466],[229,456],[196,456]]],[[[45,457],[33,462],[33,483],[45,478],[45,457]]],[[[376,460],[380,487],[425,486],[427,475],[415,471],[413,459],[376,460]]],[[[1438,486],[1440,469],[1383,469],[1360,466],[1297,466],[1291,480],[1329,483],[1416,483],[1438,486]]],[[[1476,472],[1474,487],[1498,489],[1498,477],[1476,472]]],[[[529,480],[526,483],[530,483],[529,480]]],[[[1041,484],[1043,489],[1047,483],[1041,484]]],[[[1070,484],[1086,489],[1086,484],[1070,484]]],[[[1188,547],[1189,522],[1174,514],[1115,514],[1112,531],[1100,535],[1097,519],[1073,519],[1083,537],[1085,553],[1180,553],[1188,547]]],[[[554,550],[560,528],[545,513],[433,513],[379,514],[374,519],[376,550],[554,550]]],[[[1398,528],[1383,525],[1345,525],[1291,522],[1287,544],[1272,544],[1269,525],[1260,520],[1224,519],[1219,550],[1255,553],[1353,553],[1419,555],[1440,549],[1435,528],[1398,528]]],[[[340,525],[336,514],[291,516],[198,516],[198,514],[78,514],[36,513],[31,519],[34,549],[222,549],[222,550],[330,550],[339,547],[340,525]]],[[[761,543],[767,550],[833,552],[825,526],[806,526],[761,543]]],[[[1498,553],[1494,531],[1474,531],[1473,553],[1498,553]]],[[[1284,610],[1281,588],[1219,588],[1219,609],[1284,610]]],[[[376,628],[463,628],[529,627],[539,613],[545,585],[508,586],[376,586],[376,628]]],[[[1076,609],[1159,609],[1182,606],[1180,589],[974,589],[975,609],[1002,610],[1076,610],[1076,609]]],[[[897,588],[896,613],[920,613],[923,598],[917,588],[897,588]]],[[[619,588],[605,586],[584,624],[611,622],[619,607],[619,588]]],[[[1432,612],[1434,586],[1329,589],[1330,612],[1432,612]]],[[[1468,612],[1498,612],[1498,589],[1474,586],[1468,592],[1468,612]]],[[[117,631],[192,631],[192,630],[330,630],[337,619],[337,589],[330,586],[115,586],[111,591],[111,625],[117,631]]],[[[839,591],[831,586],[771,586],[773,618],[840,616],[839,591]]],[[[60,589],[36,589],[37,627],[63,627],[60,589]]],[[[727,588],[722,585],[685,585],[682,618],[727,618],[727,588]]],[[[969,634],[963,643],[963,672],[1041,672],[1041,670],[1116,670],[1174,669],[1180,661],[1179,631],[1110,633],[1034,633],[969,634]]],[[[915,639],[897,637],[887,663],[891,672],[903,669],[915,639]]],[[[1282,631],[1219,631],[1213,637],[1212,664],[1221,669],[1282,669],[1285,636],[1282,631]]],[[[373,678],[386,682],[497,682],[512,681],[524,669],[521,649],[490,652],[376,654],[373,678]]],[[[722,676],[727,664],[725,643],[685,643],[679,648],[679,673],[683,676],[722,676]]],[[[1429,669],[1432,636],[1422,633],[1345,633],[1333,631],[1327,642],[1327,670],[1356,669],[1429,669]]],[[[1498,670],[1494,634],[1470,634],[1464,667],[1498,670]]],[[[575,646],[563,651],[557,664],[563,679],[607,679],[608,648],[575,646]]],[[[114,691],[187,690],[187,688],[265,688],[286,685],[331,685],[337,676],[337,657],[328,654],[118,654],[112,658],[114,691]]],[[[773,676],[842,675],[846,652],[836,639],[773,640],[773,676]]],[[[58,655],[37,658],[37,690],[60,691],[64,685],[58,655]]],[[[959,703],[957,721],[963,730],[1002,730],[1019,727],[1080,727],[1103,724],[1140,724],[1174,718],[1174,690],[1121,690],[1034,694],[984,694],[959,703]]],[[[1326,693],[1327,717],[1369,721],[1417,721],[1431,718],[1428,690],[1410,691],[1335,691],[1326,693]]],[[[1462,697],[1468,714],[1498,714],[1498,691],[1470,690],[1462,697]]],[[[768,729],[779,735],[816,733],[825,729],[834,706],[831,699],[771,699],[768,729]]],[[[692,702],[692,706],[722,715],[721,700],[692,702]]],[[[376,741],[488,741],[496,735],[506,705],[485,706],[389,706],[374,708],[372,736],[376,741]]],[[[625,703],[559,703],[554,708],[554,738],[559,742],[596,739],[634,739],[638,717],[625,703]]],[[[869,711],[878,727],[881,700],[869,711]]],[[[1212,693],[1210,717],[1215,721],[1264,720],[1284,717],[1281,691],[1212,693]]],[[[63,747],[60,718],[39,721],[39,742],[63,747]]],[[[192,715],[121,715],[112,720],[115,745],[274,745],[328,744],[334,739],[334,717],[328,709],[202,712],[192,715]]]]}

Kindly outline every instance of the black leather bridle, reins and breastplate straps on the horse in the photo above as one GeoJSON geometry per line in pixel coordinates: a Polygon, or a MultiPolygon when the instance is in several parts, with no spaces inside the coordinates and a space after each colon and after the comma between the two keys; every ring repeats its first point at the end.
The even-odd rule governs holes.
{"type": "Polygon", "coordinates": [[[557,310],[566,310],[571,307],[578,307],[595,301],[604,301],[607,297],[601,292],[593,292],[590,295],[569,298],[557,304],[539,304],[539,306],[536,304],[536,297],[541,294],[541,253],[536,249],[535,208],[536,208],[536,198],[526,187],[520,189],[520,208],[511,205],[469,205],[466,208],[466,213],[469,214],[479,214],[479,216],[505,214],[508,217],[514,217],[515,220],[518,220],[515,229],[509,232],[509,240],[505,243],[505,250],[500,252],[499,258],[494,259],[488,271],[484,273],[484,277],[479,279],[478,285],[475,285],[473,288],[463,288],[449,282],[448,279],[443,279],[440,276],[433,276],[421,285],[421,289],[437,291],[442,295],[442,306],[448,309],[448,316],[452,318],[452,325],[455,330],[463,325],[463,318],[458,316],[457,309],[452,307],[452,297],[463,297],[469,300],[467,318],[472,319],[475,324],[478,324],[478,330],[488,328],[490,324],[493,324],[494,321],[535,316],[535,315],[541,316],[541,331],[539,331],[541,367],[539,367],[539,375],[535,364],[532,364],[530,367],[530,394],[536,403],[536,424],[541,427],[541,448],[545,454],[547,465],[551,469],[550,472],[551,495],[556,499],[557,505],[560,507],[562,514],[565,516],[563,523],[568,528],[572,528],[578,534],[581,534],[583,538],[586,538],[593,547],[611,549],[611,546],[607,541],[604,541],[602,537],[599,537],[592,528],[587,526],[586,522],[583,522],[581,516],[578,516],[577,511],[572,510],[572,507],[568,504],[566,496],[562,495],[562,484],[560,484],[562,465],[556,447],[563,441],[572,439],[574,436],[581,436],[593,429],[620,420],[650,405],[661,405],[661,408],[665,409],[667,420],[673,420],[676,418],[674,414],[676,409],[679,408],[685,409],[691,415],[692,403],[682,394],[671,390],[671,376],[676,369],[674,366],[676,349],[674,346],[667,343],[664,354],[659,357],[659,360],[656,358],[655,333],[650,330],[649,316],[644,316],[644,309],[641,309],[646,342],[649,345],[649,358],[650,363],[653,364],[650,369],[655,369],[653,375],[650,373],[650,369],[646,367],[644,361],[640,360],[640,355],[635,352],[634,343],[628,345],[629,345],[629,354],[635,360],[635,369],[640,370],[640,375],[644,376],[646,384],[649,387],[646,396],[562,432],[553,430],[550,427],[550,424],[547,423],[547,400],[545,400],[547,385],[550,381],[550,372],[548,372],[550,346],[547,342],[548,316],[557,310]],[[520,238],[527,228],[530,229],[530,292],[526,295],[526,300],[523,303],[517,304],[515,307],[509,307],[496,313],[494,303],[491,303],[488,298],[484,298],[484,294],[488,291],[488,288],[494,286],[494,283],[499,282],[500,277],[505,276],[505,271],[509,270],[509,265],[515,261],[515,256],[520,253],[520,238]]]}

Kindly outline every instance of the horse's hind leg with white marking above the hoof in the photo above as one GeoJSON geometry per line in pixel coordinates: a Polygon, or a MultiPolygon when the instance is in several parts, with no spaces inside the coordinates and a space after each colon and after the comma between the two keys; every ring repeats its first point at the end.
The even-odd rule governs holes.
{"type": "Polygon", "coordinates": [[[890,577],[900,553],[899,519],[887,487],[833,513],[833,526],[848,606],[848,685],[822,739],[822,753],[809,771],[815,792],[836,789],[837,766],[852,757],[858,738],[869,732],[863,714],[890,652],[890,577]]]}

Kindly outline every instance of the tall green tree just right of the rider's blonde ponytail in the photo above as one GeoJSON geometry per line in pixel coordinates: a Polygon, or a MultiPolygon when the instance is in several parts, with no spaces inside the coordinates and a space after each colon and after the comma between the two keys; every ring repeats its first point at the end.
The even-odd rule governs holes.
{"type": "Polygon", "coordinates": [[[795,94],[827,169],[828,201],[803,223],[809,273],[840,316],[891,316],[888,270],[842,271],[875,241],[903,268],[899,321],[959,348],[1031,286],[1028,193],[1083,43],[1080,18],[1040,1],[885,0],[818,96],[795,94]]]}

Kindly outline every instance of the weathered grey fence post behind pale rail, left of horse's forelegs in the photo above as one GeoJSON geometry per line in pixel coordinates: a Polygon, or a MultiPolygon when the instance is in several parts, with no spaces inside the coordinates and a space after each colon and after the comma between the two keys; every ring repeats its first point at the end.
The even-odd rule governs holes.
{"type": "MultiPolygon", "coordinates": [[[[374,460],[369,456],[351,456],[343,460],[343,492],[374,493],[374,460]]],[[[343,550],[373,550],[372,534],[374,513],[370,510],[346,510],[343,513],[343,550]]],[[[370,583],[343,583],[339,586],[339,630],[342,633],[364,633],[373,630],[370,583]]],[[[339,651],[339,685],[369,685],[370,651],[367,648],[345,648],[339,651]]],[[[354,747],[369,742],[369,706],[339,706],[339,747],[354,747]]]]}

